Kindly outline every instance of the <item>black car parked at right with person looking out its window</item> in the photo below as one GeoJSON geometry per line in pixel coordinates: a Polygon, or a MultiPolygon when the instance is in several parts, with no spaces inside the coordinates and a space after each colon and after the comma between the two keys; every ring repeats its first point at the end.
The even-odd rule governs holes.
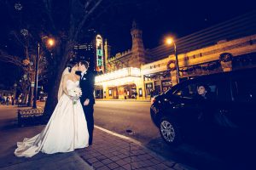
{"type": "Polygon", "coordinates": [[[183,81],[152,99],[150,114],[168,144],[190,137],[247,139],[256,134],[256,69],[183,81]],[[199,88],[206,94],[198,94],[199,88]]]}

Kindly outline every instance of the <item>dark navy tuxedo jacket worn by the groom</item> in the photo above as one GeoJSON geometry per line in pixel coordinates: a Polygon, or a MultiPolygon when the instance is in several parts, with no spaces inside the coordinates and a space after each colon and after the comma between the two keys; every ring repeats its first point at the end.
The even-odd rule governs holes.
{"type": "Polygon", "coordinates": [[[90,99],[89,105],[95,104],[94,99],[94,83],[95,83],[95,75],[91,71],[87,71],[83,77],[81,77],[82,72],[77,71],[76,74],[80,76],[79,87],[82,90],[82,96],[80,98],[81,102],[84,103],[85,99],[90,99]]]}

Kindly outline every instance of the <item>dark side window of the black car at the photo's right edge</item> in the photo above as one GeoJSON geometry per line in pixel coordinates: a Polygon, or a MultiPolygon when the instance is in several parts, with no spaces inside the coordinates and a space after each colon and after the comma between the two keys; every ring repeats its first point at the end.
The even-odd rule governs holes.
{"type": "Polygon", "coordinates": [[[256,101],[256,81],[254,79],[232,81],[236,101],[256,101]]]}

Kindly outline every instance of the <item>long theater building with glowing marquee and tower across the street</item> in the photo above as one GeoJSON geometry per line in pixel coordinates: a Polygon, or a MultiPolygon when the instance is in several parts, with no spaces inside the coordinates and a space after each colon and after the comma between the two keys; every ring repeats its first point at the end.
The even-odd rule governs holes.
{"type": "MultiPolygon", "coordinates": [[[[245,14],[189,36],[178,38],[180,81],[223,71],[256,66],[256,13],[245,14]]],[[[131,49],[108,56],[106,73],[96,77],[103,99],[150,99],[177,84],[173,47],[143,47],[142,33],[133,22],[131,49]]],[[[105,44],[104,49],[109,49],[105,44]]],[[[107,53],[106,53],[107,51],[107,53]]]]}

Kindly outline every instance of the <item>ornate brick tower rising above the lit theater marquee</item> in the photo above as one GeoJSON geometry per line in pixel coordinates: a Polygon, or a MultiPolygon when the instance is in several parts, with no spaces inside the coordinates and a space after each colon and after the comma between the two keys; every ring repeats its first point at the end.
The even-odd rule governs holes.
{"type": "Polygon", "coordinates": [[[145,63],[145,49],[143,45],[143,31],[139,29],[135,20],[132,22],[131,38],[131,66],[140,68],[145,63]]]}

